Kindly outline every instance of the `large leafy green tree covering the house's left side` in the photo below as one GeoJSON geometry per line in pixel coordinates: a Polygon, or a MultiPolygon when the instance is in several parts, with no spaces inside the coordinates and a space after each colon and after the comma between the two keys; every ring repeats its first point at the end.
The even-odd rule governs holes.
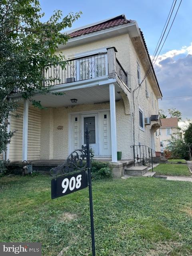
{"type": "Polygon", "coordinates": [[[48,93],[52,77],[44,78],[42,70],[50,65],[66,65],[66,59],[58,45],[66,44],[69,36],[60,31],[71,27],[81,12],[62,17],[60,10],[54,12],[47,22],[42,22],[38,0],[0,1],[0,153],[6,150],[12,132],[7,132],[10,112],[19,102],[9,100],[12,92],[22,92],[22,98],[41,107],[32,100],[35,90],[48,93]]]}

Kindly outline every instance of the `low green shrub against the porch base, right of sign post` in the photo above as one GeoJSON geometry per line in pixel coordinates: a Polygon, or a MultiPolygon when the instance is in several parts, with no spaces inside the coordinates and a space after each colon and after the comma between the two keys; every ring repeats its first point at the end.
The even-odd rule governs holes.
{"type": "Polygon", "coordinates": [[[109,162],[92,161],[91,177],[93,180],[100,180],[112,177],[112,170],[109,162]]]}

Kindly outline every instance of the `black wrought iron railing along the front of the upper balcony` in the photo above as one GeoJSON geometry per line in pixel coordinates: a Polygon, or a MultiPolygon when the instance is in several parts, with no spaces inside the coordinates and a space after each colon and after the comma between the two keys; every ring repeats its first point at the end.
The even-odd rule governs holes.
{"type": "Polygon", "coordinates": [[[44,70],[44,86],[54,86],[106,76],[106,55],[96,54],[68,60],[65,68],[49,66],[44,70]],[[50,81],[51,80],[51,81],[50,81]]]}

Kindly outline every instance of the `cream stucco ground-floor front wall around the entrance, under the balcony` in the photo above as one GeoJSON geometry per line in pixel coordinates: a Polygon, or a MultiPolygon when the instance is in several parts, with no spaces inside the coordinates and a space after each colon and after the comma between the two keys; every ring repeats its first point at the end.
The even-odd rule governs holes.
{"type": "MultiPolygon", "coordinates": [[[[65,159],[69,154],[69,114],[109,109],[109,102],[42,110],[41,159],[65,159]],[[63,130],[58,130],[63,126],[63,130]]],[[[116,102],[117,143],[123,159],[132,158],[131,115],[125,114],[124,102],[116,102]]]]}

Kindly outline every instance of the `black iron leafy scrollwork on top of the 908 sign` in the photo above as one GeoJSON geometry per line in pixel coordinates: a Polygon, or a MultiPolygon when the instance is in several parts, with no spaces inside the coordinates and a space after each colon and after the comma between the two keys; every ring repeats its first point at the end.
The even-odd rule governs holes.
{"type": "Polygon", "coordinates": [[[56,166],[50,170],[51,176],[66,174],[74,171],[80,171],[87,168],[87,146],[74,150],[66,159],[64,164],[56,166]]]}

